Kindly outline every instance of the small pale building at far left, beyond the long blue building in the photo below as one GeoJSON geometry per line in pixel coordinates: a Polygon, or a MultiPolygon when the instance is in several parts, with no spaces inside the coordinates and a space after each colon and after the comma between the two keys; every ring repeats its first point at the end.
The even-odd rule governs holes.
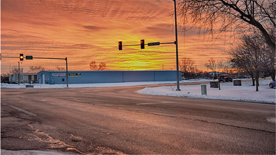
{"type": "MultiPolygon", "coordinates": [[[[18,83],[18,73],[9,75],[9,83],[18,83]]],[[[20,83],[37,83],[37,73],[20,73],[20,83]]]]}

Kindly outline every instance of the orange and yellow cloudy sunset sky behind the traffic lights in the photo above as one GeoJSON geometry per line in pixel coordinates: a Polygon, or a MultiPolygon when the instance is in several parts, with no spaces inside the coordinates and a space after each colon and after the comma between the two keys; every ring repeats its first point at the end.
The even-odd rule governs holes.
{"type": "MultiPolygon", "coordinates": [[[[68,57],[69,70],[90,70],[89,63],[106,63],[107,70],[175,70],[175,44],[123,47],[149,42],[174,42],[174,2],[171,0],[1,0],[2,57],[68,57]]],[[[181,18],[178,17],[179,27],[181,18]]],[[[210,57],[226,60],[225,38],[216,42],[198,32],[178,32],[179,60],[191,57],[200,70],[210,57]]],[[[18,66],[19,58],[2,58],[1,73],[18,66]]],[[[22,62],[22,64],[21,64],[22,62]]],[[[46,70],[66,67],[64,60],[20,61],[46,70]]]]}

